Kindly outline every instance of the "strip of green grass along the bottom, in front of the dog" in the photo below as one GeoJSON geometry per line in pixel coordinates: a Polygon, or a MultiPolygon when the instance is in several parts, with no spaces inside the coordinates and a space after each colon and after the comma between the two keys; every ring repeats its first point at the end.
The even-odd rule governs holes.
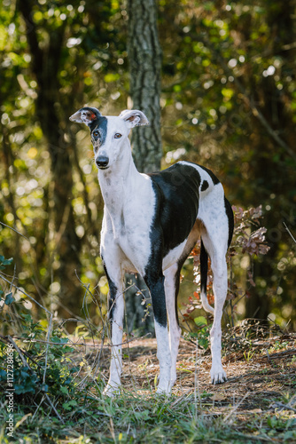
{"type": "MultiPolygon", "coordinates": [[[[123,392],[115,399],[98,396],[96,400],[84,402],[63,415],[63,425],[43,408],[33,417],[33,411],[24,416],[24,406],[19,406],[15,436],[24,443],[287,442],[296,439],[295,415],[288,409],[247,415],[237,411],[238,404],[228,405],[224,412],[221,407],[214,411],[213,406],[209,408],[206,404],[197,408],[193,395],[180,400],[175,396],[165,399],[123,392]]],[[[4,432],[1,437],[2,442],[10,442],[4,432]]]]}

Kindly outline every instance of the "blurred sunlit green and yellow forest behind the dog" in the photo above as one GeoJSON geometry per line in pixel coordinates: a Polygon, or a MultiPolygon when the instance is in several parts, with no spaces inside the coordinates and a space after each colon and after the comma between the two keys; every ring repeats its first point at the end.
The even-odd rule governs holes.
{"type": "MultiPolygon", "coordinates": [[[[252,262],[243,253],[233,258],[248,295],[236,319],[269,316],[295,329],[296,245],[286,230],[296,234],[295,1],[160,0],[154,7],[161,166],[203,164],[232,204],[262,205],[270,250],[252,262]]],[[[124,1],[1,1],[0,254],[13,258],[6,278],[61,318],[82,314],[82,282],[105,307],[103,200],[89,131],[68,119],[84,105],[105,115],[131,106],[128,28],[124,1]]],[[[182,311],[196,290],[191,263],[182,311]]],[[[27,309],[36,307],[27,301],[27,309]]]]}

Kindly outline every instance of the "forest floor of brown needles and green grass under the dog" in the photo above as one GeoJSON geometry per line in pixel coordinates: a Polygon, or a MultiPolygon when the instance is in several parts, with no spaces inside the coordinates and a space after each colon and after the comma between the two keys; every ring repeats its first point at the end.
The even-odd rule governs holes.
{"type": "MultiPolygon", "coordinates": [[[[87,343],[83,353],[64,354],[76,366],[84,361],[74,378],[79,394],[62,405],[58,396],[51,405],[41,398],[30,406],[20,402],[15,439],[26,444],[296,442],[296,333],[261,333],[248,325],[223,334],[228,381],[222,385],[210,384],[209,349],[182,339],[170,397],[155,394],[156,339],[132,339],[123,346],[122,389],[113,398],[102,394],[110,347],[102,348],[98,377],[91,379],[96,353],[87,343]]],[[[14,441],[2,432],[0,442],[14,441]]]]}

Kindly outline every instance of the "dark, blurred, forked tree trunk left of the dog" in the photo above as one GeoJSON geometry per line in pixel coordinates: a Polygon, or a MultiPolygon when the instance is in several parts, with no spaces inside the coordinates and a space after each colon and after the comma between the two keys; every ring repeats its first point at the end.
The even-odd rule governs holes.
{"type": "MultiPolygon", "coordinates": [[[[27,43],[31,53],[31,69],[38,85],[36,115],[40,121],[47,148],[51,155],[53,181],[53,228],[55,233],[56,264],[53,279],[59,281],[58,292],[61,306],[58,310],[63,317],[80,313],[82,287],[75,277],[79,274],[81,263],[79,253],[81,242],[75,233],[74,210],[72,207],[73,172],[70,161],[70,147],[64,141],[66,125],[58,115],[58,71],[61,63],[61,49],[65,25],[62,24],[49,36],[49,43],[42,47],[38,41],[38,26],[34,22],[35,2],[22,0],[19,10],[26,22],[27,43]],[[70,310],[69,311],[67,310],[70,310]]],[[[68,113],[70,114],[70,113],[68,113]]],[[[51,271],[49,271],[49,282],[51,271]]]]}

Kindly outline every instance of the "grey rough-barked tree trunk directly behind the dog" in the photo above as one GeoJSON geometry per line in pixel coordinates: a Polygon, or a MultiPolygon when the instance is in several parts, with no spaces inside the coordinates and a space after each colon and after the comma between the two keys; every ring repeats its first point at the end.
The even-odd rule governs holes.
{"type": "MultiPolygon", "coordinates": [[[[128,0],[129,13],[129,75],[133,108],[144,112],[149,126],[135,128],[131,144],[136,168],[141,172],[160,170],[162,156],[160,135],[160,71],[161,49],[157,29],[157,6],[154,0],[128,0]]],[[[149,292],[140,276],[127,277],[135,287],[126,292],[129,330],[143,334],[153,331],[152,315],[146,316],[147,305],[141,305],[137,289],[149,292]],[[144,320],[144,321],[143,321],[144,320]]],[[[150,307],[151,313],[151,307],[150,307]]]]}

